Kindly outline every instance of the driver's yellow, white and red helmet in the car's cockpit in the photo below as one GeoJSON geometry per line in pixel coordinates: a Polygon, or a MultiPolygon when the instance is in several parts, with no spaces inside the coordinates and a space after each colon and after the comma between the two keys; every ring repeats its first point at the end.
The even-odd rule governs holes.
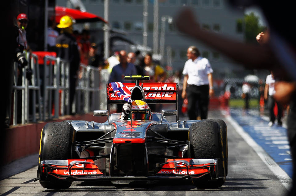
{"type": "Polygon", "coordinates": [[[152,113],[146,102],[135,100],[132,102],[131,115],[133,120],[151,120],[152,113]]]}

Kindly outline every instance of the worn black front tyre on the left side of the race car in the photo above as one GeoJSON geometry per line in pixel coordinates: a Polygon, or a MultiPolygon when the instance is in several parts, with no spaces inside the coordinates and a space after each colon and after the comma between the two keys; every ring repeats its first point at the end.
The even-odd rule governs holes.
{"type": "MultiPolygon", "coordinates": [[[[39,161],[40,160],[66,160],[71,159],[72,142],[74,141],[75,130],[67,122],[47,123],[41,132],[39,161]]],[[[68,189],[72,181],[59,180],[48,176],[38,170],[38,177],[41,186],[46,189],[68,189]]]]}

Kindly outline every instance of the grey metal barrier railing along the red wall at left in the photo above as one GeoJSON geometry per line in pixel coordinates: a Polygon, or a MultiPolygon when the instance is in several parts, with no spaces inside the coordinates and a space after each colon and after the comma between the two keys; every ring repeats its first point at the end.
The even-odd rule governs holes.
{"type": "MultiPolygon", "coordinates": [[[[40,69],[43,69],[42,74],[37,55],[27,52],[26,59],[29,64],[20,71],[18,63],[14,63],[13,125],[68,115],[72,110],[69,98],[69,62],[54,56],[45,56],[44,65],[40,65],[40,69]],[[26,69],[32,71],[30,80],[26,78],[26,69]],[[40,74],[43,76],[40,77],[40,74]]],[[[75,112],[82,114],[107,108],[106,84],[109,71],[99,70],[90,65],[80,65],[80,70],[76,86],[75,112]]]]}

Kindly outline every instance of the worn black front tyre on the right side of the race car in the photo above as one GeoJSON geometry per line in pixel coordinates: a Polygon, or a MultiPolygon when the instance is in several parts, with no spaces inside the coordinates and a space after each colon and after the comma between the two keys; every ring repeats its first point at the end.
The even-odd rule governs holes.
{"type": "Polygon", "coordinates": [[[212,180],[192,180],[199,188],[217,188],[225,182],[223,150],[221,148],[220,126],[215,121],[200,121],[189,128],[191,157],[194,159],[217,159],[217,178],[212,180]]]}

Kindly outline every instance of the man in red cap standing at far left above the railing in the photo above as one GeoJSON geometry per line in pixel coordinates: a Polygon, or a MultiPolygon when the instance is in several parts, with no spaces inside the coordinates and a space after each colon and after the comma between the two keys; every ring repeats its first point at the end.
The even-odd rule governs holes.
{"type": "Polygon", "coordinates": [[[16,18],[18,22],[18,27],[19,27],[19,36],[18,36],[18,43],[23,46],[23,49],[32,52],[31,48],[29,47],[27,43],[27,38],[26,38],[26,28],[28,25],[28,17],[26,14],[21,13],[18,15],[16,18]]]}

